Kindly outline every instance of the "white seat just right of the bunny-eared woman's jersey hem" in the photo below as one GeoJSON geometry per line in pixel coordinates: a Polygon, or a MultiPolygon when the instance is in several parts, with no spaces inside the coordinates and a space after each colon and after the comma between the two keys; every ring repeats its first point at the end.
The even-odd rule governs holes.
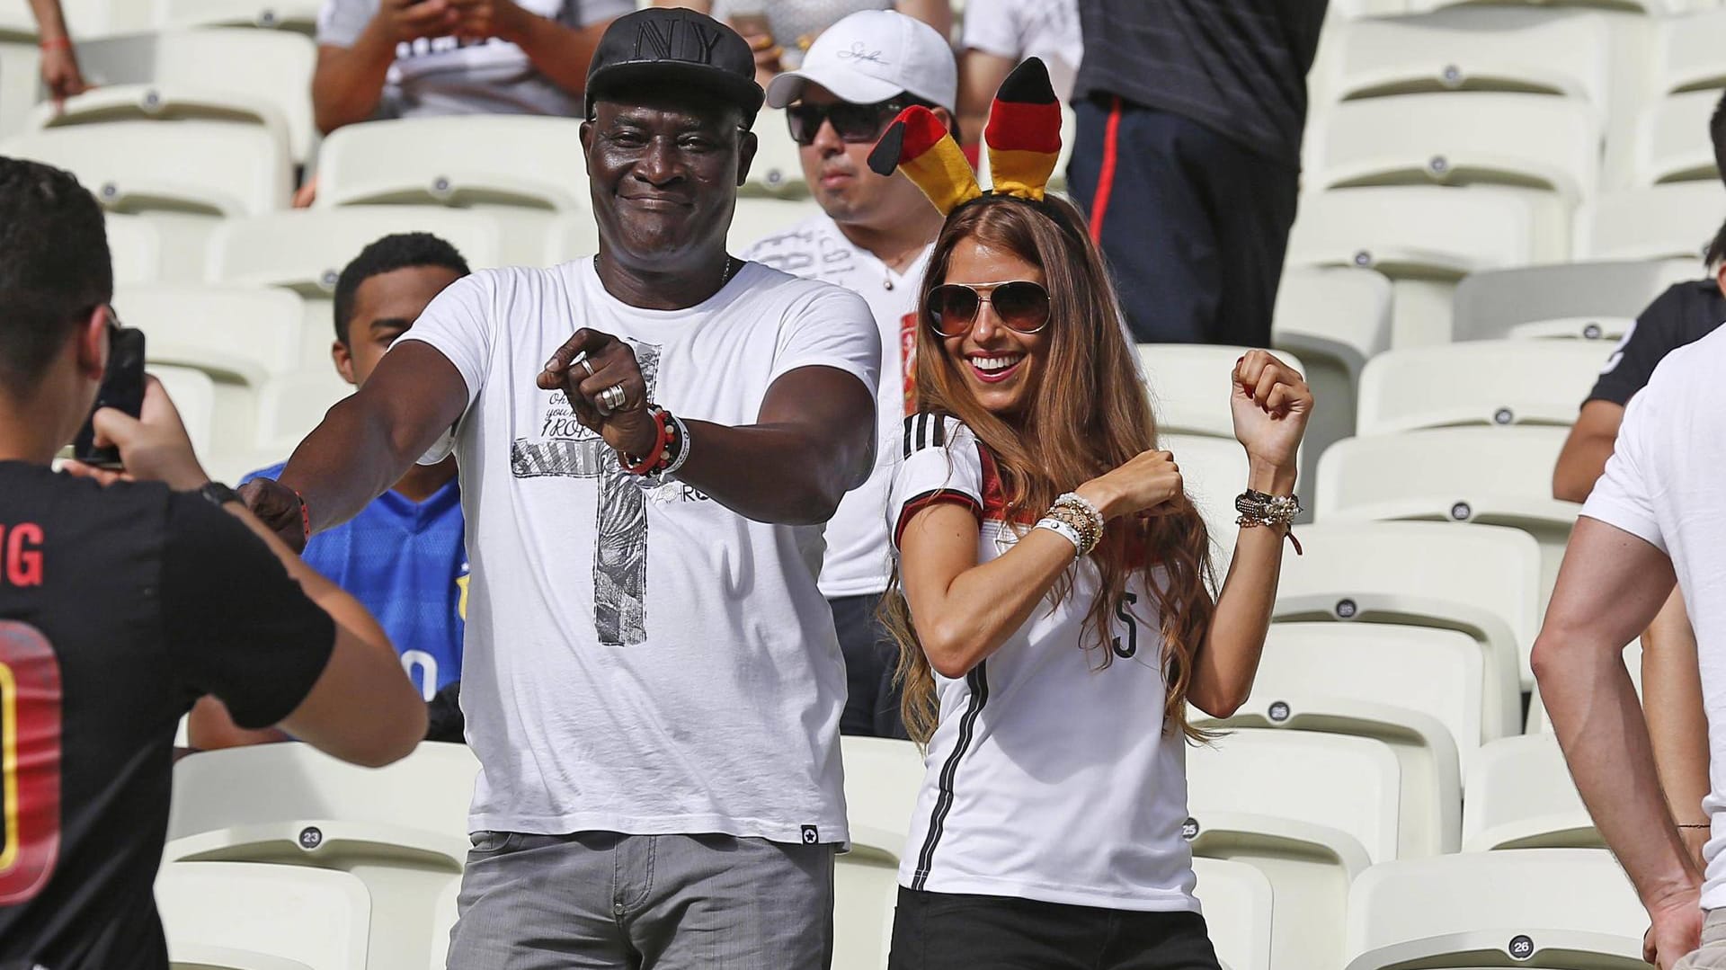
{"type": "Polygon", "coordinates": [[[1348,884],[1396,858],[1396,756],[1362,737],[1241,728],[1189,749],[1187,778],[1193,854],[1270,880],[1276,960],[1336,967],[1348,884]]]}

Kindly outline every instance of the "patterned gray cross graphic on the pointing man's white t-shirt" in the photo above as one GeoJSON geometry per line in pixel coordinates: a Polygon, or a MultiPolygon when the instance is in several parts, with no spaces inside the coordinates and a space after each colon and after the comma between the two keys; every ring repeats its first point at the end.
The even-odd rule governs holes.
{"type": "MultiPolygon", "coordinates": [[[[649,400],[659,376],[659,345],[628,340],[635,349],[649,400]]],[[[563,392],[552,392],[552,407],[568,409],[563,392]]],[[[547,416],[547,426],[556,418],[547,416]]],[[[559,425],[571,423],[556,421],[559,425]]],[[[599,509],[594,520],[594,632],[608,647],[628,647],[647,639],[647,497],[640,478],[630,475],[611,445],[594,431],[578,428],[575,437],[545,435],[516,438],[509,445],[509,469],[516,478],[597,478],[599,509]]]]}

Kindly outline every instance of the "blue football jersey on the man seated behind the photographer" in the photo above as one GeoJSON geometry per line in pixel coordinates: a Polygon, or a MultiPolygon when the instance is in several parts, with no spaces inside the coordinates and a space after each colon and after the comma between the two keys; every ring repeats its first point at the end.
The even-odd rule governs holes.
{"type": "MultiPolygon", "coordinates": [[[[247,475],[274,478],[281,464],[247,475]]],[[[456,478],[425,502],[385,492],[306,544],[306,563],[378,618],[426,701],[461,680],[468,547],[456,478]]]]}

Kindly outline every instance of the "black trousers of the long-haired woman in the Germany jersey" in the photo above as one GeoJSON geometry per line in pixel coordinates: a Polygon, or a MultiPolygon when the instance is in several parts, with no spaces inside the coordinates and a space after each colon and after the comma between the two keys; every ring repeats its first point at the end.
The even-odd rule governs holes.
{"type": "Polygon", "coordinates": [[[899,889],[887,970],[1219,970],[1198,913],[899,889]]]}

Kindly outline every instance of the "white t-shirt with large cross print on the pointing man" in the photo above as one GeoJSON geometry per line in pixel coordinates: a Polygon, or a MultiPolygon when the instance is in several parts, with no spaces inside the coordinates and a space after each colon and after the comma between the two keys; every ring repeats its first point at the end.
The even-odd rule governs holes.
{"type": "Polygon", "coordinates": [[[583,326],[635,349],[654,402],[720,425],[753,425],[797,368],[854,375],[870,397],[880,369],[858,295],[754,262],[683,311],[620,302],[587,259],[475,273],[426,307],[402,340],[449,357],[469,395],[454,450],[471,827],[846,841],[822,526],[625,473],[561,390],[535,385],[583,326]]]}

